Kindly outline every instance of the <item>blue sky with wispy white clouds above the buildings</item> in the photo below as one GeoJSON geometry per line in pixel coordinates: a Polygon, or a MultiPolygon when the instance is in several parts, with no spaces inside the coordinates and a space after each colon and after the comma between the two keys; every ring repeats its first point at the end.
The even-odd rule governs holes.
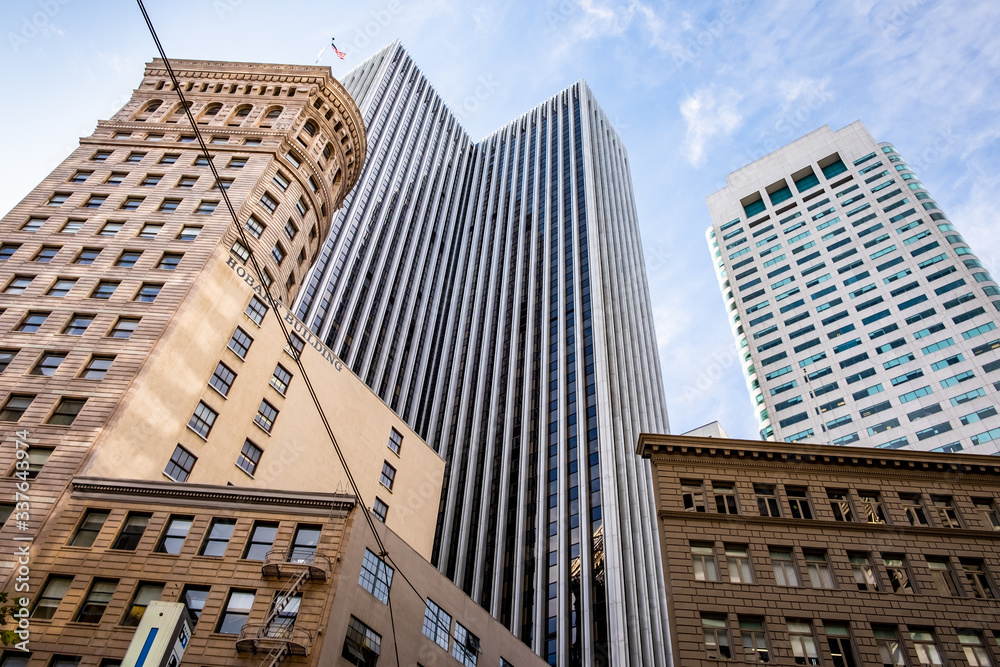
{"type": "MultiPolygon", "coordinates": [[[[726,174],[822,125],[892,141],[1000,274],[1000,3],[148,0],[173,58],[335,75],[393,39],[485,136],[586,79],[632,164],[671,428],[756,437],[705,244],[726,174]],[[478,93],[477,93],[478,88],[478,93]],[[992,195],[992,196],[991,196],[992,195]]],[[[0,211],[108,118],[155,49],[130,2],[0,6],[0,211]]]]}

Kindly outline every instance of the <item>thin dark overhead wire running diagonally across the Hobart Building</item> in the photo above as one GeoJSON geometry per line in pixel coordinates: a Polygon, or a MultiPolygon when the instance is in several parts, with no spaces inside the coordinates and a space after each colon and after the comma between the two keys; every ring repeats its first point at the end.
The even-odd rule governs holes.
{"type": "MultiPolygon", "coordinates": [[[[191,123],[191,128],[194,131],[195,138],[197,139],[198,142],[198,146],[201,149],[201,152],[204,154],[206,161],[208,162],[209,169],[211,169],[212,171],[212,177],[215,179],[215,187],[217,187],[219,189],[219,192],[222,194],[222,199],[225,202],[226,210],[228,211],[230,217],[233,220],[233,223],[236,227],[236,233],[239,235],[241,243],[245,248],[247,248],[249,254],[248,259],[253,268],[253,272],[256,275],[256,278],[259,281],[259,283],[264,286],[263,291],[265,296],[267,297],[268,305],[270,306],[270,309],[274,311],[274,316],[278,321],[278,326],[281,328],[282,336],[284,337],[285,342],[288,344],[288,348],[293,353],[291,356],[295,360],[295,364],[298,367],[299,372],[302,374],[302,381],[309,391],[309,396],[312,399],[313,405],[316,408],[316,412],[323,423],[323,428],[326,431],[326,435],[329,438],[330,443],[333,445],[333,449],[337,454],[337,458],[340,461],[341,466],[344,468],[344,473],[347,475],[347,480],[348,483],[351,485],[351,490],[353,491],[355,497],[358,499],[359,504],[361,505],[362,515],[365,517],[365,521],[368,524],[368,527],[371,529],[372,536],[374,537],[375,543],[379,549],[379,557],[390,562],[393,565],[393,567],[395,567],[396,572],[398,572],[400,576],[403,577],[403,580],[407,583],[407,585],[409,585],[409,587],[413,590],[413,592],[416,593],[417,597],[419,597],[420,600],[426,604],[427,599],[420,594],[420,592],[416,589],[413,583],[400,569],[399,565],[389,556],[389,552],[386,549],[385,544],[383,543],[382,538],[379,535],[378,528],[375,525],[374,519],[371,516],[371,511],[368,509],[368,506],[364,502],[364,497],[361,494],[361,489],[358,487],[357,481],[354,479],[354,475],[351,473],[351,469],[347,463],[347,459],[345,458],[344,453],[340,448],[340,443],[337,441],[337,437],[333,432],[333,427],[330,425],[330,421],[326,416],[326,412],[323,409],[322,404],[320,403],[319,396],[316,393],[316,389],[314,388],[312,381],[309,378],[309,374],[306,371],[304,364],[302,363],[301,359],[302,355],[300,351],[293,344],[292,334],[289,331],[288,327],[285,326],[285,322],[279,314],[278,311],[279,302],[271,295],[269,280],[266,280],[264,278],[264,271],[261,268],[260,264],[257,262],[257,258],[253,252],[253,244],[247,238],[243,225],[240,224],[239,216],[237,216],[236,214],[236,209],[233,206],[232,201],[229,199],[229,193],[227,192],[226,187],[223,185],[222,180],[219,177],[219,171],[216,168],[215,163],[212,161],[212,154],[208,150],[208,145],[205,143],[205,138],[202,136],[201,130],[198,128],[198,124],[195,122],[194,115],[191,113],[191,105],[184,98],[184,92],[183,90],[181,90],[180,82],[177,80],[177,76],[174,73],[174,69],[170,64],[169,58],[167,58],[167,54],[163,48],[163,44],[160,42],[160,38],[156,34],[156,29],[153,26],[152,19],[150,19],[149,13],[146,11],[146,7],[143,4],[143,0],[136,0],[136,2],[138,3],[139,9],[142,12],[142,16],[146,21],[146,26],[149,28],[149,33],[153,38],[153,42],[156,44],[156,49],[160,54],[160,59],[163,60],[163,65],[167,70],[167,75],[170,77],[171,83],[173,84],[174,91],[177,93],[177,97],[180,99],[181,108],[184,109],[184,113],[187,116],[188,122],[191,123]]],[[[392,604],[391,602],[387,602],[387,604],[389,607],[389,619],[392,626],[393,648],[396,654],[396,664],[398,666],[399,651],[396,648],[395,620],[393,619],[392,604]]]]}

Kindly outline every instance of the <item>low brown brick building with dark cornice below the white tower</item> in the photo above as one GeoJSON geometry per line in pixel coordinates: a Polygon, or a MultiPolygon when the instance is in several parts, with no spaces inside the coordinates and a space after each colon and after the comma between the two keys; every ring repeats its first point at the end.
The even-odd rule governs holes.
{"type": "Polygon", "coordinates": [[[643,435],[674,664],[996,665],[1000,461],[643,435]]]}

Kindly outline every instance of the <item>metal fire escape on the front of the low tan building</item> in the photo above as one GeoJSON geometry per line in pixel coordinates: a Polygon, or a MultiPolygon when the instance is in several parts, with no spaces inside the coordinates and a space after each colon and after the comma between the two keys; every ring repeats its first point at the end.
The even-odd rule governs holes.
{"type": "Polygon", "coordinates": [[[295,625],[299,592],[308,581],[326,581],[330,577],[330,559],[311,548],[273,550],[264,557],[261,576],[287,583],[275,596],[263,623],[243,626],[236,650],[265,654],[260,667],[277,667],[288,656],[309,655],[313,633],[295,625]]]}

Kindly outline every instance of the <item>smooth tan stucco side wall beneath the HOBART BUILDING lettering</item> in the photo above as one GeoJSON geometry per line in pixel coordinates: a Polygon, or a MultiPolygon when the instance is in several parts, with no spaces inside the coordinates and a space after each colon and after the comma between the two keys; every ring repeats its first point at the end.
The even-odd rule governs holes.
{"type": "MultiPolygon", "coordinates": [[[[284,352],[274,314],[269,312],[262,326],[244,315],[256,284],[249,275],[221,248],[209,260],[109,421],[83,474],[166,479],[163,470],[181,444],[198,457],[187,480],[192,483],[351,492],[302,374],[284,352]],[[237,325],[254,339],[245,360],[227,348],[237,325]],[[237,374],[228,397],[208,385],[220,360],[237,374]],[[269,385],[277,363],[292,374],[284,397],[269,385]],[[270,434],[253,422],[262,398],[279,411],[270,434]],[[219,413],[207,441],[187,428],[199,400],[219,413]],[[235,464],[246,438],[264,450],[253,478],[235,464]]],[[[387,525],[430,558],[444,461],[329,350],[318,342],[310,346],[315,340],[311,334],[281,310],[286,326],[307,340],[302,362],[362,502],[371,508],[375,497],[381,498],[389,506],[387,525]],[[399,456],[387,447],[391,428],[403,435],[399,456]],[[383,461],[397,471],[392,491],[379,483],[383,461]]]]}

